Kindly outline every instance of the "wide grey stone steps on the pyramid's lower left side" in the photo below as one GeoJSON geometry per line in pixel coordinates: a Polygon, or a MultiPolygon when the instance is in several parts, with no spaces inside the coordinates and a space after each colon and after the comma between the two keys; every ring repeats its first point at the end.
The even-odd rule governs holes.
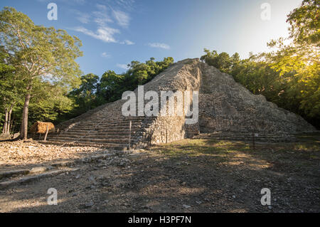
{"type": "Polygon", "coordinates": [[[59,130],[48,137],[49,142],[100,145],[106,149],[127,150],[137,147],[144,133],[144,117],[91,116],[66,130],[59,130]],[[130,122],[132,123],[130,131],[130,122]]]}

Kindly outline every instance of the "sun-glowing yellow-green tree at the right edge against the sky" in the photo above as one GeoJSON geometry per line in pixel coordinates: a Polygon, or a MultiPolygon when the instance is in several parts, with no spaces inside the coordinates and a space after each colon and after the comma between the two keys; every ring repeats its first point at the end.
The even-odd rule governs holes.
{"type": "Polygon", "coordinates": [[[287,22],[289,37],[271,41],[271,67],[289,84],[288,93],[299,100],[298,109],[306,117],[320,121],[320,1],[304,0],[287,22]],[[284,45],[284,41],[291,41],[284,45]],[[290,75],[290,76],[288,76],[290,75]]]}

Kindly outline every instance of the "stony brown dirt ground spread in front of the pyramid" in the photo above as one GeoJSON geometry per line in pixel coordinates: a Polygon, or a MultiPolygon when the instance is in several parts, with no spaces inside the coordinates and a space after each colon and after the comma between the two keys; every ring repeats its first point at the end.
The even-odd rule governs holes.
{"type": "MultiPolygon", "coordinates": [[[[0,190],[0,212],[320,212],[319,142],[256,144],[253,149],[245,142],[186,139],[0,190]],[[49,188],[58,191],[57,206],[47,204],[49,188]],[[271,191],[271,206],[260,202],[263,188],[271,191]]],[[[52,147],[46,154],[54,160],[49,160],[40,153],[46,147],[38,146],[31,157],[21,153],[6,159],[10,146],[23,144],[0,143],[2,169],[100,152],[65,147],[55,156],[52,147]]]]}

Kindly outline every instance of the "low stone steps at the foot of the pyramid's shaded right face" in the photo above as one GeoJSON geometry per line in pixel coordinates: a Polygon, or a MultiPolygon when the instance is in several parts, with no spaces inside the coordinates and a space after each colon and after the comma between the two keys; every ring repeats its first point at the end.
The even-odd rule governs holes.
{"type": "Polygon", "coordinates": [[[198,134],[193,139],[217,139],[230,141],[252,142],[294,142],[296,137],[291,134],[252,134],[252,133],[237,133],[237,132],[215,132],[198,134]]]}

